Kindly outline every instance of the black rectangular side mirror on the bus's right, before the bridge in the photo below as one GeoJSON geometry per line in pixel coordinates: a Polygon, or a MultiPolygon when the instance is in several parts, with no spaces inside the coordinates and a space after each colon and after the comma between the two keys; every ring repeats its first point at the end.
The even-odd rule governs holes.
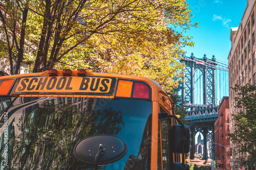
{"type": "Polygon", "coordinates": [[[185,135],[182,135],[182,126],[181,125],[173,125],[172,131],[170,133],[170,143],[172,145],[172,152],[173,153],[188,153],[189,152],[189,145],[190,145],[190,134],[189,134],[189,127],[185,127],[185,135]],[[184,151],[183,149],[183,141],[184,144],[184,151]]]}

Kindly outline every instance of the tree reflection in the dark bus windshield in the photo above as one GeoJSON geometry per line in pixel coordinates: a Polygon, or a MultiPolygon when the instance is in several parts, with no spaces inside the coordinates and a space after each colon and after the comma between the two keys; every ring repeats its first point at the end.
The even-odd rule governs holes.
{"type": "Polygon", "coordinates": [[[95,134],[117,135],[124,126],[121,111],[109,108],[83,112],[76,104],[60,106],[49,101],[25,116],[19,118],[20,134],[10,146],[8,167],[12,170],[88,169],[91,165],[73,156],[75,144],[95,134]]]}

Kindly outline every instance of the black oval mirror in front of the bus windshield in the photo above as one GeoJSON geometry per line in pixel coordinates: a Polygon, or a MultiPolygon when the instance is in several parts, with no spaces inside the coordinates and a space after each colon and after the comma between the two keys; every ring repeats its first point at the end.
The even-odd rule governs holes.
{"type": "Polygon", "coordinates": [[[118,161],[126,152],[127,144],[121,138],[111,134],[100,134],[80,140],[75,145],[73,154],[79,162],[94,164],[95,170],[98,170],[98,165],[118,161]]]}

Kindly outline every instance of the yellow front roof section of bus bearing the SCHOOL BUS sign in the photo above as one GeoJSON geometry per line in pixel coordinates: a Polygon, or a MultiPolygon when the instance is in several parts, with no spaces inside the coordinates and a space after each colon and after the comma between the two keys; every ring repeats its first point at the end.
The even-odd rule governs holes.
{"type": "Polygon", "coordinates": [[[167,105],[172,100],[155,81],[87,70],[47,70],[0,77],[0,95],[132,98],[167,105]],[[147,92],[148,90],[148,92],[147,92]]]}

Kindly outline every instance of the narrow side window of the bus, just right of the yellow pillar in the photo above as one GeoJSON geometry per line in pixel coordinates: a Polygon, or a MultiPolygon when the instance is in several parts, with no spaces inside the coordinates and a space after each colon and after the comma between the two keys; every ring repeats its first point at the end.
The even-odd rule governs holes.
{"type": "Polygon", "coordinates": [[[170,119],[158,120],[158,169],[170,169],[172,158],[170,158],[168,128],[171,127],[170,119]]]}

